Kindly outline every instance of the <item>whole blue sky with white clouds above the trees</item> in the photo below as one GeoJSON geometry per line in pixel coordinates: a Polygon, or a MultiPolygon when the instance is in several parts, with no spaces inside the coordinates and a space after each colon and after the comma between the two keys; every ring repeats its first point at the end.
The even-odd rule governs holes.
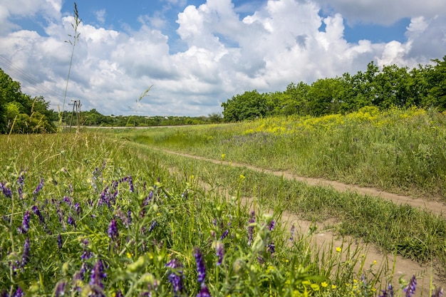
{"type": "Polygon", "coordinates": [[[446,55],[444,0],[76,5],[73,46],[73,1],[0,0],[0,68],[54,110],[80,100],[81,110],[103,115],[195,117],[222,113],[245,91],[284,91],[365,71],[370,61],[414,68],[446,55]]]}

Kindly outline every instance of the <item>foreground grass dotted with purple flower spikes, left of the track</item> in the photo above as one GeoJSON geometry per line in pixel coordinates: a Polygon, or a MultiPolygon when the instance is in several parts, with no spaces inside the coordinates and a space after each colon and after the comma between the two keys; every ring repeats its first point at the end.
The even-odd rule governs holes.
{"type": "Polygon", "coordinates": [[[373,296],[388,276],[348,244],[318,251],[311,234],[290,239],[276,223],[293,204],[262,211],[293,200],[293,187],[307,197],[303,184],[261,186],[254,172],[94,132],[0,135],[0,159],[2,296],[373,296]]]}

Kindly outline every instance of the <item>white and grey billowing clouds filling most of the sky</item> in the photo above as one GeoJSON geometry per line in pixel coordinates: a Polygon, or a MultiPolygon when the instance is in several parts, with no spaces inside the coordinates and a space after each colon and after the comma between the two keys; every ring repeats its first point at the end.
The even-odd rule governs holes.
{"type": "MultiPolygon", "coordinates": [[[[32,73],[33,78],[22,83],[24,92],[44,95],[57,108],[71,58],[71,46],[64,41],[73,33],[74,20],[73,16],[62,17],[60,1],[43,2],[54,4],[46,4],[46,15],[52,16],[45,26],[46,36],[14,28],[11,15],[32,14],[31,8],[25,5],[22,11],[14,11],[17,6],[0,4],[0,28],[9,24],[0,36],[0,53],[14,67],[32,73]]],[[[246,90],[284,90],[291,82],[311,83],[355,73],[370,61],[380,66],[416,66],[444,55],[444,17],[414,14],[405,42],[348,43],[343,37],[344,24],[355,11],[343,7],[355,5],[346,0],[331,2],[337,10],[322,15],[324,4],[316,1],[253,1],[250,7],[256,9],[248,13],[247,5],[240,9],[230,0],[207,0],[199,6],[184,6],[177,15],[177,40],[162,31],[167,19],[156,13],[139,16],[140,26],[124,31],[82,23],[68,100],[80,99],[83,109],[96,108],[105,114],[207,115],[221,111],[222,102],[246,90]],[[182,43],[184,49],[172,53],[176,43],[182,43]],[[136,102],[150,85],[154,85],[150,96],[136,102]]],[[[371,2],[355,3],[361,11],[371,2]]],[[[418,7],[415,1],[412,5],[418,7]]],[[[378,13],[385,14],[374,11],[375,21],[381,17],[378,13]]],[[[410,15],[408,11],[405,16],[410,15]]],[[[105,11],[96,16],[106,21],[105,11]]],[[[0,66],[3,64],[0,59],[0,66]]],[[[10,74],[21,78],[15,71],[10,74]]]]}

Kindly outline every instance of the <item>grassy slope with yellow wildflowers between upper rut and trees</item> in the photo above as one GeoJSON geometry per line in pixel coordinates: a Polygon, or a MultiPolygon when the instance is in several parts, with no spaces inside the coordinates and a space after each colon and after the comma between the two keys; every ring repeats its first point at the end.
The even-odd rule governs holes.
{"type": "Polygon", "coordinates": [[[435,110],[369,107],[321,118],[121,132],[135,142],[217,160],[443,202],[446,197],[446,115],[435,110]]]}

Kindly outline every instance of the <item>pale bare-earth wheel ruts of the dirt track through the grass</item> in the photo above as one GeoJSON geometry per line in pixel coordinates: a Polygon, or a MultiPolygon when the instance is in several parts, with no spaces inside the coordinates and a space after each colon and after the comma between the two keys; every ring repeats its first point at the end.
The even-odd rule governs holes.
{"type": "MultiPolygon", "coordinates": [[[[213,160],[208,159],[206,157],[198,157],[195,155],[188,155],[181,152],[173,152],[169,150],[162,150],[163,152],[167,152],[170,154],[181,155],[183,157],[190,157],[197,160],[204,160],[207,162],[212,162],[215,164],[223,164],[223,165],[231,165],[235,167],[246,167],[249,170],[256,170],[258,172],[265,172],[268,174],[274,174],[276,176],[283,176],[286,179],[296,179],[301,182],[306,182],[311,186],[320,186],[320,187],[332,187],[340,192],[352,191],[357,192],[358,194],[370,195],[374,197],[380,197],[382,199],[388,199],[395,204],[409,204],[413,207],[419,207],[427,212],[432,212],[433,214],[441,215],[446,218],[446,204],[442,204],[440,202],[428,201],[420,198],[412,198],[403,195],[383,192],[375,188],[371,187],[358,187],[351,184],[343,184],[341,182],[326,180],[326,179],[316,179],[316,178],[308,178],[308,177],[299,177],[295,174],[291,174],[289,172],[282,171],[273,171],[273,170],[265,170],[259,167],[254,167],[251,165],[227,162],[222,160],[213,160]]],[[[246,203],[251,203],[249,199],[246,203]]],[[[281,222],[286,224],[287,226],[291,226],[294,224],[303,232],[307,232],[309,227],[311,226],[311,222],[304,221],[299,219],[295,214],[284,212],[281,217],[281,222]]],[[[332,222],[331,222],[332,223],[332,222]]],[[[323,224],[322,224],[323,225],[323,224]]],[[[314,244],[318,246],[326,246],[328,247],[333,242],[333,247],[341,246],[343,242],[351,242],[352,246],[359,246],[360,249],[363,250],[362,254],[365,254],[365,267],[370,266],[374,261],[377,261],[377,264],[373,265],[374,269],[378,269],[379,266],[387,266],[390,269],[394,267],[394,275],[393,275],[393,286],[395,288],[398,287],[398,279],[403,277],[406,281],[415,274],[418,280],[417,292],[415,296],[430,296],[430,283],[434,283],[437,286],[441,286],[442,288],[446,288],[446,280],[444,278],[440,278],[437,271],[433,269],[431,266],[422,266],[415,261],[411,261],[410,259],[405,259],[401,256],[393,256],[393,255],[385,255],[381,253],[374,246],[365,246],[365,244],[354,241],[349,238],[340,238],[336,234],[333,234],[331,231],[324,231],[323,226],[318,228],[319,231],[315,236],[313,236],[314,244]],[[395,263],[394,263],[395,260],[395,263]],[[432,279],[431,279],[432,278],[432,279]]]]}

